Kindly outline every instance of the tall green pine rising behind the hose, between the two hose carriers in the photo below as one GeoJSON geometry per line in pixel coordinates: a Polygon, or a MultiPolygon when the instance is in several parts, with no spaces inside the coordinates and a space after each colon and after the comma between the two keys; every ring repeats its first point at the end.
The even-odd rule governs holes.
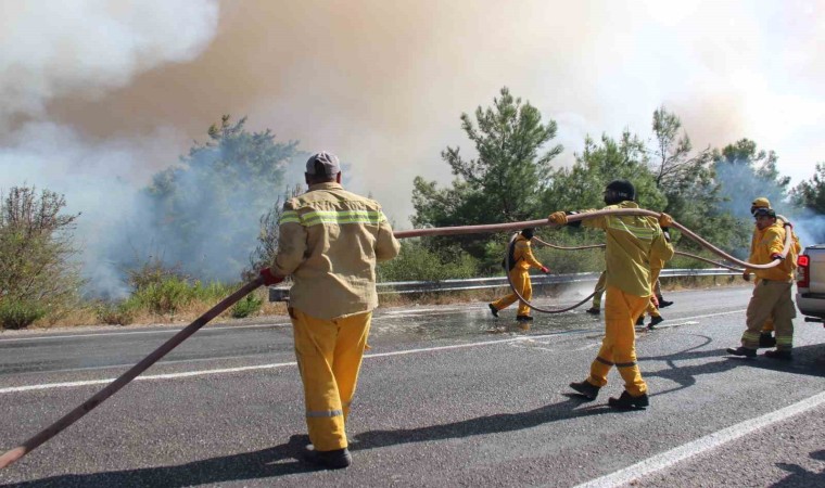
{"type": "MultiPolygon", "coordinates": [[[[458,146],[442,152],[456,176],[452,188],[439,189],[434,181],[415,179],[412,223],[442,227],[535,218],[550,162],[562,151],[561,145],[545,147],[556,137],[556,123],[543,124],[537,108],[513,98],[505,87],[492,107],[475,110],[475,124],[461,114],[461,128],[477,157],[465,158],[458,146]]],[[[457,244],[481,257],[485,240],[471,235],[432,242],[442,247],[457,244]]]]}

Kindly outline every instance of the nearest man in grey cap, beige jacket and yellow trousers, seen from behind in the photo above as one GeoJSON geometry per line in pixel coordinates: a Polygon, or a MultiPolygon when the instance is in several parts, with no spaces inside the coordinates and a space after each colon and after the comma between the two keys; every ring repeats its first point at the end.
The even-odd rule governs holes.
{"type": "Polygon", "coordinates": [[[376,262],[401,245],[377,202],[341,187],[333,154],[313,155],[305,179],[308,191],[283,205],[278,252],[261,274],[266,284],[294,280],[289,313],[315,448],[306,458],[341,468],[352,462],[345,421],[378,306],[376,262]]]}

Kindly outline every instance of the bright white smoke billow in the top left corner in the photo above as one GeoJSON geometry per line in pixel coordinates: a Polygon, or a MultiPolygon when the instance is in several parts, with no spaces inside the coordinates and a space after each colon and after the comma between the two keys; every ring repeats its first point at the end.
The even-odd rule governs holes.
{"type": "Polygon", "coordinates": [[[63,97],[99,97],[194,59],[215,36],[215,0],[0,2],[0,120],[63,97]]]}

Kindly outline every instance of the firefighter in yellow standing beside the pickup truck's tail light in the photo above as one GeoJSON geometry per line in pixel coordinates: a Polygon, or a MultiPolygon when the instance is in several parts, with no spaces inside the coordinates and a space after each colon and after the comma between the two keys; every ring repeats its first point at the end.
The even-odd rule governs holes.
{"type": "Polygon", "coordinates": [[[777,222],[776,213],[771,208],[759,207],[753,211],[753,218],[757,222],[757,233],[748,261],[766,265],[778,259],[782,262],[769,269],[748,268],[745,270],[745,274],[752,272],[757,275],[757,284],[753,286],[753,294],[746,312],[747,330],[741,336],[741,346],[729,347],[727,352],[746,358],[756,357],[757,348],[760,347],[762,326],[769,317],[773,317],[776,349],[765,351],[765,356],[789,360],[792,358],[794,349],[792,319],[797,316],[790,291],[794,285],[796,257],[800,247],[799,244],[792,243],[788,255],[783,258],[786,230],[777,222]]]}

